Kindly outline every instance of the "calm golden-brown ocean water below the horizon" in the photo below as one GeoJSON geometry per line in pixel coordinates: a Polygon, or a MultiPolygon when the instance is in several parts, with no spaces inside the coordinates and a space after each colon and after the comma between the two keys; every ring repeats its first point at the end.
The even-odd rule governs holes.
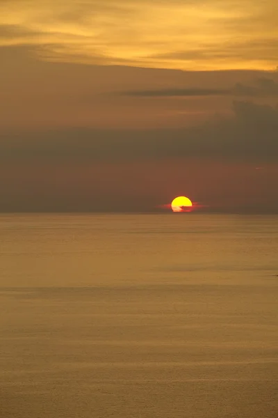
{"type": "Polygon", "coordinates": [[[1,215],[0,417],[277,417],[277,274],[277,216],[1,215]]]}

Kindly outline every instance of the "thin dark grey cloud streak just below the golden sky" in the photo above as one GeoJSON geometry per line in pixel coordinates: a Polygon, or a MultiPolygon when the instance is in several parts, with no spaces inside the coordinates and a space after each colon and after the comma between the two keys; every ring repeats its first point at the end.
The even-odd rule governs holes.
{"type": "Polygon", "coordinates": [[[253,85],[237,83],[233,88],[160,88],[157,90],[124,91],[120,95],[150,98],[206,96],[271,97],[278,95],[278,83],[273,79],[261,77],[253,85]]]}

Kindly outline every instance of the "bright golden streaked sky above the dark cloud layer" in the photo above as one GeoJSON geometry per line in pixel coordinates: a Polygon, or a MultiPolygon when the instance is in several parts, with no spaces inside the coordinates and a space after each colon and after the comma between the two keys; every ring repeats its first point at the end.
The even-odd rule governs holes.
{"type": "Polygon", "coordinates": [[[1,0],[1,45],[41,59],[274,70],[277,0],[1,0]]]}

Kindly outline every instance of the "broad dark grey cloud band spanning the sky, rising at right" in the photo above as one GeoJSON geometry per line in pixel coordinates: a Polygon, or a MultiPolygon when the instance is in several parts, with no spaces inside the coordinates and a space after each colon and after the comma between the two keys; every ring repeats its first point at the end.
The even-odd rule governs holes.
{"type": "Polygon", "coordinates": [[[1,161],[132,161],[202,157],[278,162],[278,107],[234,101],[231,118],[163,130],[75,128],[2,135],[1,161]]]}

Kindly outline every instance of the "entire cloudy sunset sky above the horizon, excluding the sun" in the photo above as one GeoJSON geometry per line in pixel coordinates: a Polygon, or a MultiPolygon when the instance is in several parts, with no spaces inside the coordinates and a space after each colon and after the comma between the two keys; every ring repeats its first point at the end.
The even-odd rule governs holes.
{"type": "Polygon", "coordinates": [[[0,212],[278,212],[276,0],[1,0],[0,212]]]}

